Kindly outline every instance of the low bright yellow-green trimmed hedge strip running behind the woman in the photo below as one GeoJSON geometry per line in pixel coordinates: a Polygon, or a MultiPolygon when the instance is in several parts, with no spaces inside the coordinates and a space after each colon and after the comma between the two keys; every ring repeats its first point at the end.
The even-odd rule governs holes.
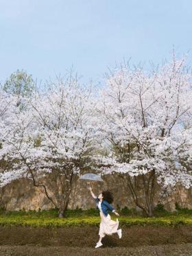
{"type": "MultiPolygon", "coordinates": [[[[116,216],[112,216],[115,220],[116,216]]],[[[80,216],[70,218],[36,218],[29,216],[0,216],[0,226],[32,226],[32,227],[67,227],[67,226],[99,226],[99,216],[80,216]]],[[[160,218],[141,218],[141,217],[119,217],[121,226],[178,226],[192,225],[191,216],[169,216],[160,218]]]]}

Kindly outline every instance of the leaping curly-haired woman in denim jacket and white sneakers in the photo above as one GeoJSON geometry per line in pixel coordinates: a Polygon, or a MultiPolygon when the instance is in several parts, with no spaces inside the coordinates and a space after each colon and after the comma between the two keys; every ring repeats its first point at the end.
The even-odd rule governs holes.
{"type": "Polygon", "coordinates": [[[117,216],[119,216],[119,213],[117,213],[117,211],[115,211],[115,209],[110,205],[113,202],[113,196],[110,191],[103,191],[97,198],[97,196],[93,194],[91,187],[88,187],[88,190],[91,191],[91,196],[93,196],[95,199],[101,216],[101,222],[99,226],[99,242],[97,242],[95,246],[95,248],[98,248],[103,245],[101,240],[105,235],[112,235],[113,233],[117,233],[119,238],[121,238],[121,229],[118,229],[119,221],[118,219],[117,221],[111,220],[110,215],[108,214],[108,210],[112,211],[117,216]]]}

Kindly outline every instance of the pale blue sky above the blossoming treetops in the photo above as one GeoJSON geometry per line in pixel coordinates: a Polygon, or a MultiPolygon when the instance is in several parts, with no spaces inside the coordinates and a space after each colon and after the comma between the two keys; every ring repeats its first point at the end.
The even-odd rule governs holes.
{"type": "Polygon", "coordinates": [[[0,82],[17,69],[45,82],[72,66],[99,83],[108,68],[192,57],[191,0],[0,0],[0,82]]]}

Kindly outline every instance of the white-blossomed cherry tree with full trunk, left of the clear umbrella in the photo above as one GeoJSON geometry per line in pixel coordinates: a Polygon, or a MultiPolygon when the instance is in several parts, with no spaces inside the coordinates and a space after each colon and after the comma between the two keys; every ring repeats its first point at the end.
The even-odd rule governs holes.
{"type": "Polygon", "coordinates": [[[1,176],[2,185],[27,176],[64,216],[77,176],[92,163],[91,97],[91,88],[71,73],[49,84],[45,93],[34,93],[19,113],[14,111],[9,128],[3,128],[3,152],[12,167],[1,176]]]}

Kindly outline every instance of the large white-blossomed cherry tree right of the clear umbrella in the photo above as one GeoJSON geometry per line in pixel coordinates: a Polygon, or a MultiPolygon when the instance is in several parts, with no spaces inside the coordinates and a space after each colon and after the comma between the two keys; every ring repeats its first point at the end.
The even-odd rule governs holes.
{"type": "Polygon", "coordinates": [[[186,59],[145,73],[125,65],[110,72],[97,107],[105,136],[105,173],[117,172],[137,207],[154,214],[157,189],[191,187],[192,87],[186,59]]]}

